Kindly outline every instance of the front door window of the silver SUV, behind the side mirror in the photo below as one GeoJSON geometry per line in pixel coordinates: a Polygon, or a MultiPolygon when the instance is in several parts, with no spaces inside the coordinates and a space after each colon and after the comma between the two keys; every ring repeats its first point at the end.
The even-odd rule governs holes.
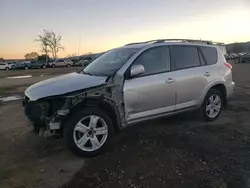
{"type": "Polygon", "coordinates": [[[140,76],[170,71],[170,49],[160,46],[144,51],[133,65],[143,65],[145,72],[140,76]]]}

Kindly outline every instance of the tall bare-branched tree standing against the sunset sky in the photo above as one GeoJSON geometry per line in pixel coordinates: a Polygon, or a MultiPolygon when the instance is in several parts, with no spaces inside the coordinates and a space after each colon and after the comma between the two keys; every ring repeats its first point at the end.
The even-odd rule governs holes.
{"type": "Polygon", "coordinates": [[[56,58],[57,53],[64,49],[61,39],[62,37],[57,36],[54,31],[43,30],[42,35],[38,35],[35,41],[40,43],[42,52],[46,55],[51,53],[52,57],[56,58]]]}

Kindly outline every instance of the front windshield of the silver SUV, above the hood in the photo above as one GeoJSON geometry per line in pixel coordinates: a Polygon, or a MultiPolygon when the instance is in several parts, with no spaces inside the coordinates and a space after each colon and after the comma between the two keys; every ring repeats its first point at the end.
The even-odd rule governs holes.
{"type": "Polygon", "coordinates": [[[137,51],[137,48],[119,48],[106,52],[88,65],[83,72],[98,76],[113,75],[137,51]]]}

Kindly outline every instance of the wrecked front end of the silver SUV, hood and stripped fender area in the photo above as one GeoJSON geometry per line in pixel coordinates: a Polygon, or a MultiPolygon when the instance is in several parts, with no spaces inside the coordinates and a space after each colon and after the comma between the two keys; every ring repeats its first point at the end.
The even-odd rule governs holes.
{"type": "Polygon", "coordinates": [[[118,86],[107,76],[83,73],[58,76],[26,89],[25,114],[34,132],[45,137],[62,136],[67,118],[85,106],[102,109],[120,128],[126,122],[118,86]]]}

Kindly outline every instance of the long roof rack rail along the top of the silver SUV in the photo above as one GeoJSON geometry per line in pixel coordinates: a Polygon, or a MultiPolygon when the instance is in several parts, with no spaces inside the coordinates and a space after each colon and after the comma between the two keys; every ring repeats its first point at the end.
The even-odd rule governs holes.
{"type": "Polygon", "coordinates": [[[163,43],[163,42],[186,42],[186,43],[201,43],[201,44],[211,44],[211,45],[224,45],[224,43],[220,42],[213,42],[213,41],[207,41],[207,40],[195,40],[195,39],[157,39],[157,40],[150,40],[146,42],[135,42],[126,44],[125,46],[129,45],[135,45],[135,44],[147,44],[147,43],[163,43]]]}

